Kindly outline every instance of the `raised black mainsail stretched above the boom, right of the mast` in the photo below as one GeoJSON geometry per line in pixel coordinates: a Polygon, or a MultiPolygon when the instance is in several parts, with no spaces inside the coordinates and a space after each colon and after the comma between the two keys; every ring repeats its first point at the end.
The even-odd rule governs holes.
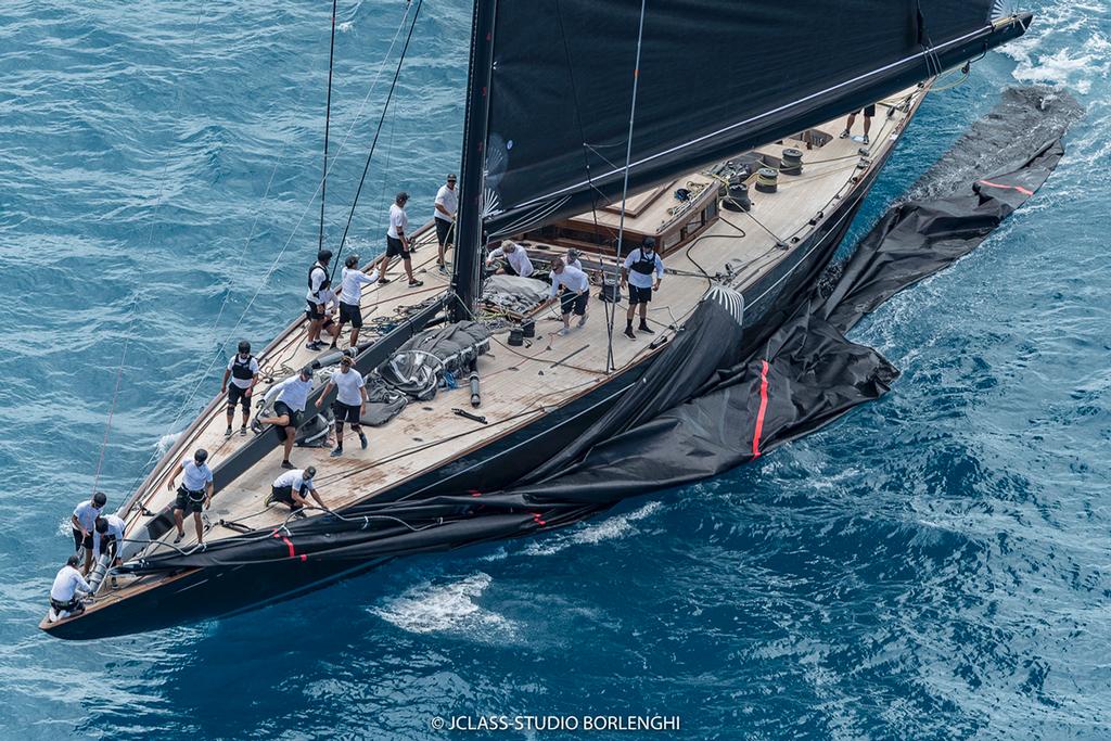
{"type": "MultiPolygon", "coordinates": [[[[480,103],[493,239],[620,197],[641,0],[489,4],[492,31],[478,40],[492,47],[480,103]]],[[[1029,23],[1003,18],[1003,4],[647,0],[630,183],[664,181],[979,56],[1029,23]]]]}

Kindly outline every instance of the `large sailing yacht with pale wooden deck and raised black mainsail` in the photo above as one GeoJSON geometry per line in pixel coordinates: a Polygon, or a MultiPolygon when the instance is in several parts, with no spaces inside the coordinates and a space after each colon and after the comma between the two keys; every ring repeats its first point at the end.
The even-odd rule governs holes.
{"type": "MultiPolygon", "coordinates": [[[[1031,20],[998,0],[832,4],[478,0],[451,274],[436,270],[426,224],[413,236],[423,287],[363,290],[371,321],[354,361],[374,375],[414,338],[478,322],[488,334],[470,364],[478,404],[469,388],[410,398],[368,429],[366,450],[296,448],[294,463],[319,471],[327,509],[293,518],[267,504],[280,435],[226,438],[226,400],[213,398],[121,508],[114,584],[100,564],[84,610],[40,627],[90,639],[230,614],[400,554],[597,512],[527,497],[507,504],[499,492],[573,463],[607,415],[635,417],[620,402],[685,341],[705,302],[725,308],[743,348],[759,347],[825,270],[931,80],[1031,20]],[[869,142],[840,137],[844,117],[870,104],[869,142]],[[650,304],[654,333],[629,339],[619,264],[648,237],[667,274],[650,304]],[[539,302],[519,312],[483,302],[482,251],[502,239],[539,267],[580,252],[594,281],[583,327],[559,333],[539,302]],[[167,489],[197,448],[210,451],[216,477],[203,547],[188,528],[173,542],[167,489]]],[[[263,403],[296,369],[338,360],[307,350],[304,330],[298,318],[258,354],[263,403]]],[[[326,382],[318,372],[310,410],[326,382]]]]}

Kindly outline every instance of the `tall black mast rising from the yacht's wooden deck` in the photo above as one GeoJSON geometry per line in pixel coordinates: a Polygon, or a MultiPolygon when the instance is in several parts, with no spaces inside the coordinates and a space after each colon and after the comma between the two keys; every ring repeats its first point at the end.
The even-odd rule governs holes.
{"type": "Polygon", "coordinates": [[[480,267],[486,230],[482,194],[487,124],[490,119],[490,78],[493,72],[493,30],[497,0],[474,0],[471,21],[471,62],[467,73],[467,114],[463,119],[463,161],[459,170],[462,198],[456,219],[456,264],[451,288],[458,299],[452,319],[473,316],[480,290],[480,267]]]}

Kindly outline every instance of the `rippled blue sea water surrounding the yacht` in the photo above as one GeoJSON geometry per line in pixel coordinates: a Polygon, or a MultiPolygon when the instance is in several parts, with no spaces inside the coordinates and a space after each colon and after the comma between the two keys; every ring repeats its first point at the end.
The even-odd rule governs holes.
{"type": "MultiPolygon", "coordinates": [[[[1005,86],[1084,103],[1035,199],[854,331],[903,371],[880,402],[546,537],[221,621],[42,635],[98,468],[119,501],[217,390],[221,341],[264,343],[299,308],[330,4],[0,4],[0,737],[419,739],[483,714],[678,715],[685,738],[1111,737],[1111,11],[1091,0],[1032,3],[1024,39],[931,96],[854,224],[1005,86]]],[[[333,241],[406,10],[340,6],[333,241]]],[[[458,0],[421,11],[354,214],[366,254],[393,191],[428,203],[458,167],[469,20],[458,0]]]]}

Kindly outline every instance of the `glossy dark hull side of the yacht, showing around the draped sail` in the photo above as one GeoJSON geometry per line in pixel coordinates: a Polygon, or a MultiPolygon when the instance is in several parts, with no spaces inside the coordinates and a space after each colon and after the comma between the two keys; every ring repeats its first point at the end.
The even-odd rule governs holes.
{"type": "MultiPolygon", "coordinates": [[[[825,214],[827,218],[808,239],[791,247],[791,254],[785,260],[744,291],[747,351],[760,347],[810,296],[882,166],[883,161],[877,162],[853,193],[825,214]]],[[[593,424],[649,364],[650,361],[645,361],[614,375],[604,385],[546,414],[536,423],[382,492],[376,499],[397,500],[504,488],[536,470],[549,458],[553,447],[561,445],[560,441],[574,439],[593,424]]],[[[387,560],[376,559],[358,564],[279,561],[191,570],[80,619],[44,628],[58,638],[76,640],[158,630],[292,599],[369,571],[387,560]]]]}

